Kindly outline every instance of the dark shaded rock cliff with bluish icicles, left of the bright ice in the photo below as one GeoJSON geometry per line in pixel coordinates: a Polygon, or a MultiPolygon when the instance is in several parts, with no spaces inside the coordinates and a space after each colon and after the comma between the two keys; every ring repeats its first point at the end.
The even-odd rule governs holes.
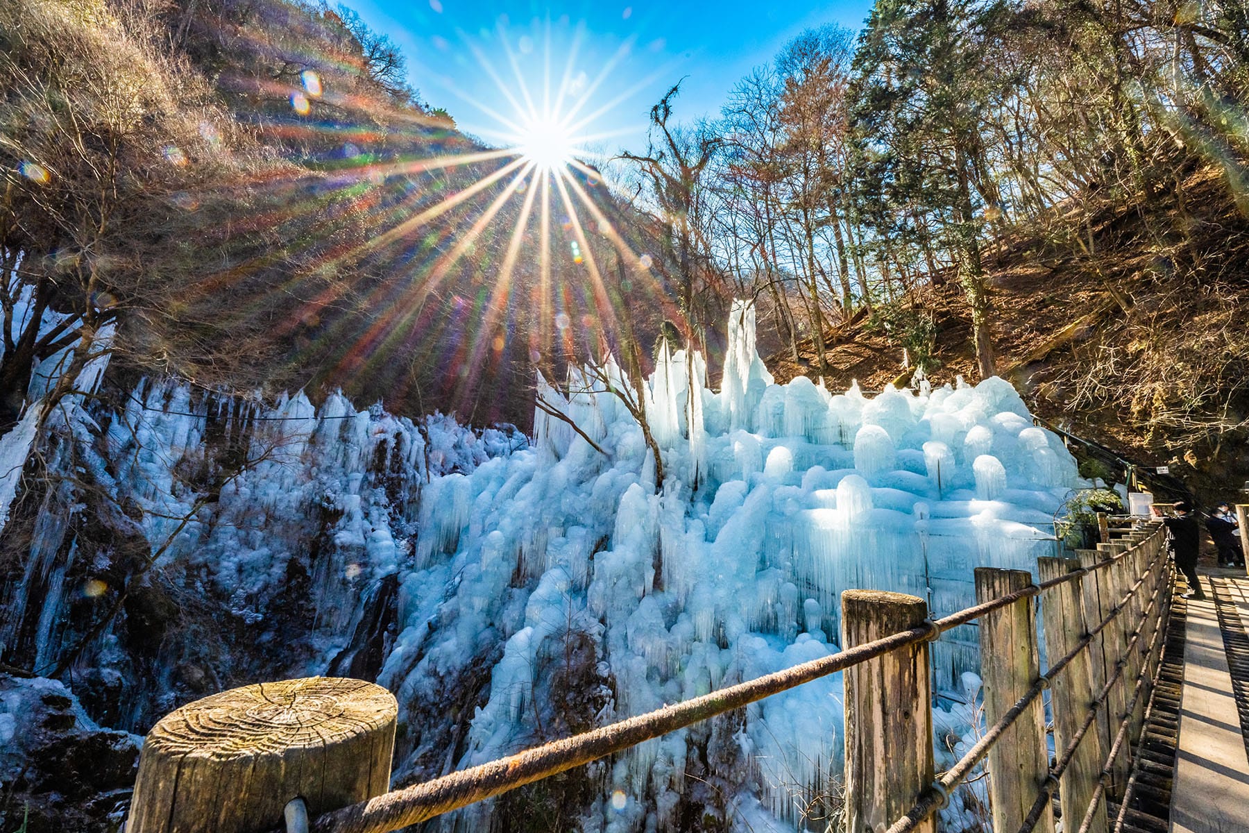
{"type": "Polygon", "coordinates": [[[27,804],[31,832],[119,822],[105,798],[132,782],[129,733],[191,699],[275,677],[375,678],[421,486],[526,442],[341,396],[315,408],[174,383],[105,393],[125,407],[50,418],[4,527],[0,728],[20,739],[0,744],[4,829],[27,804]]]}

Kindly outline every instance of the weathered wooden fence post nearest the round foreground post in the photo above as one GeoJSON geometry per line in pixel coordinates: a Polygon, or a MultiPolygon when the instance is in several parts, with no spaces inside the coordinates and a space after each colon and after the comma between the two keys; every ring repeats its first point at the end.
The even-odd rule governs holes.
{"type": "MultiPolygon", "coordinates": [[[[928,603],[904,593],[842,593],[842,647],[918,627],[928,603]]],[[[878,833],[911,809],[933,783],[932,686],[928,643],[898,648],[847,668],[846,831],[878,833]]],[[[936,833],[929,817],[914,828],[936,833]]]]}

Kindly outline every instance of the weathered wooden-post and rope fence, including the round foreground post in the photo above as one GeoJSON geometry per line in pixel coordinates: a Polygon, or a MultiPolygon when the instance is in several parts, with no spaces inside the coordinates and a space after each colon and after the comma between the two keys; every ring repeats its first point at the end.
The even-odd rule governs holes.
{"type": "MultiPolygon", "coordinates": [[[[286,681],[280,684],[294,687],[292,692],[300,686],[328,686],[331,689],[338,683],[350,683],[347,688],[363,686],[368,689],[367,696],[357,692],[352,697],[361,704],[388,701],[382,709],[388,717],[360,706],[361,728],[343,728],[347,734],[340,746],[325,749],[326,756],[338,756],[333,763],[330,763],[331,757],[323,757],[317,761],[325,763],[310,764],[313,767],[310,772],[322,773],[316,787],[322,792],[313,796],[300,781],[306,767],[270,772],[251,767],[246,758],[237,762],[230,758],[229,766],[237,764],[237,774],[227,779],[247,781],[249,801],[252,802],[249,806],[264,809],[257,809],[251,823],[241,827],[222,827],[227,813],[222,809],[217,829],[224,833],[255,831],[256,817],[269,819],[270,812],[276,816],[261,827],[280,824],[282,808],[291,814],[294,804],[289,802],[300,798],[301,803],[294,807],[295,817],[305,819],[318,813],[307,827],[301,821],[299,827],[302,829],[388,833],[844,672],[844,813],[848,829],[933,833],[937,812],[973,769],[985,763],[990,773],[994,833],[1053,833],[1049,808],[1055,792],[1068,831],[1077,832],[1079,817],[1078,833],[1105,833],[1105,802],[1108,797],[1119,796],[1118,789],[1127,779],[1124,749],[1130,749],[1134,733],[1139,732],[1144,717],[1139,704],[1152,689],[1160,666],[1159,646],[1169,618],[1172,584],[1162,535],[1160,525],[1152,525],[1147,531],[1129,532],[1125,540],[1103,542],[1097,551],[1078,551],[1078,562],[1039,558],[1037,569],[1043,579],[1039,582],[1023,571],[977,568],[978,603],[936,619],[922,598],[848,589],[842,594],[842,647],[837,653],[388,793],[382,791],[390,777],[393,697],[380,687],[357,681],[286,681]],[[1053,577],[1045,578],[1047,574],[1053,577]],[[1054,657],[1044,673],[1039,667],[1034,601],[1043,594],[1039,618],[1054,657]],[[988,728],[949,769],[938,774],[929,707],[933,696],[929,643],[970,622],[977,622],[980,632],[988,728]],[[1132,686],[1130,692],[1125,691],[1128,686],[1132,686]],[[1054,714],[1057,753],[1053,761],[1048,754],[1048,728],[1042,709],[1047,689],[1054,714]],[[1094,691],[1097,697],[1089,699],[1094,691]],[[917,707],[898,708],[899,703],[917,707]],[[921,703],[923,707],[918,707],[921,703]],[[387,719],[390,728],[386,728],[387,719]],[[1097,731],[1092,732],[1094,724],[1097,731]],[[346,738],[357,731],[365,733],[361,737],[377,738],[368,746],[368,754],[376,761],[353,757],[358,756],[357,747],[362,749],[363,746],[346,738]],[[1010,742],[1002,743],[1003,738],[1010,742]],[[317,797],[330,794],[325,792],[331,783],[326,781],[330,772],[335,783],[356,784],[336,793],[346,798],[317,797]],[[355,774],[360,772],[368,773],[368,784],[355,774]],[[367,796],[372,798],[365,799],[367,796]],[[306,806],[302,799],[307,799],[306,806]],[[352,799],[357,803],[341,806],[352,799]],[[327,807],[340,808],[323,812],[327,807]]],[[[246,694],[271,703],[264,687],[259,693],[250,688],[255,687],[217,697],[229,699],[246,694]]],[[[217,708],[211,699],[201,702],[204,709],[217,708]]],[[[317,693],[297,703],[291,708],[316,711],[325,706],[326,698],[317,693]]],[[[131,833],[174,829],[176,826],[170,827],[172,822],[169,821],[174,807],[191,808],[186,812],[192,816],[200,812],[196,809],[200,799],[209,802],[206,807],[216,807],[206,798],[210,792],[216,794],[214,778],[205,776],[200,784],[184,778],[180,769],[185,749],[177,744],[192,742],[182,738],[186,734],[182,724],[197,726],[195,721],[200,719],[195,718],[197,712],[192,707],[196,704],[179,709],[157,726],[159,729],[169,723],[165,729],[169,738],[164,744],[145,743],[127,819],[131,833]],[[165,747],[169,747],[169,761],[157,757],[165,747]],[[192,796],[195,791],[204,794],[192,796]]],[[[217,712],[211,714],[212,721],[219,721],[217,712]]],[[[242,811],[229,809],[229,813],[241,816],[242,811]]]]}

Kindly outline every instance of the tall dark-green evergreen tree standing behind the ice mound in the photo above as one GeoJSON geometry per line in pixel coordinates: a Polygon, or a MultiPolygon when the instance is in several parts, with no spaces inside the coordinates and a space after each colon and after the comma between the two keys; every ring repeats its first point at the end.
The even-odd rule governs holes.
{"type": "Polygon", "coordinates": [[[884,270],[906,269],[907,246],[924,250],[936,236],[957,264],[982,377],[994,373],[984,210],[1000,200],[982,139],[1000,84],[985,54],[1002,12],[997,2],[882,0],[859,37],[851,90],[857,197],[877,257],[884,270]]]}

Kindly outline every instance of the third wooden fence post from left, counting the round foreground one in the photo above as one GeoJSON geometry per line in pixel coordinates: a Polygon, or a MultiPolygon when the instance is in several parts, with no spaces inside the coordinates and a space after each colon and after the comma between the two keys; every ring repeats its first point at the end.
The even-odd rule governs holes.
{"type": "MultiPolygon", "coordinates": [[[[1022,569],[975,568],[977,603],[1029,584],[1032,574],[1022,569]]],[[[980,619],[980,676],[984,679],[987,726],[1002,719],[1040,677],[1035,612],[1034,598],[1027,597],[980,619]]],[[[994,833],[1015,833],[1035,803],[1049,772],[1045,739],[1045,709],[1038,697],[989,749],[994,833]]],[[[1034,829],[1053,833],[1054,813],[1048,806],[1034,829]]]]}

